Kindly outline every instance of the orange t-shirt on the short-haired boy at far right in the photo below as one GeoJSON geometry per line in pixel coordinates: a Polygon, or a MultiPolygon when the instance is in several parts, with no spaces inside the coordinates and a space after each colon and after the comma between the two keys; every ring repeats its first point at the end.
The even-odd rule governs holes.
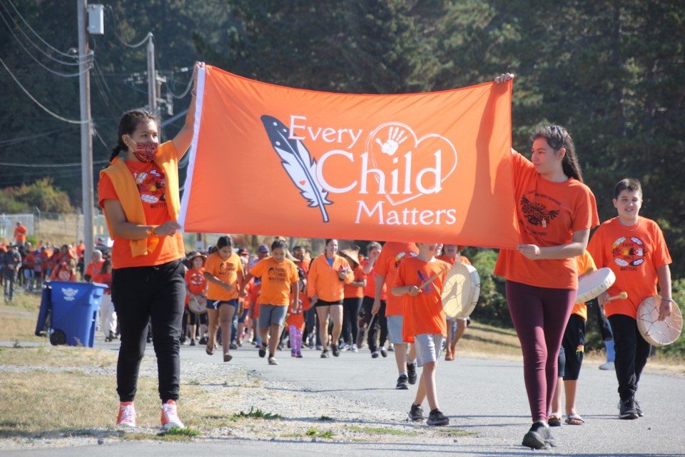
{"type": "Polygon", "coordinates": [[[672,262],[659,225],[642,216],[631,227],[621,225],[618,218],[604,222],[594,232],[587,250],[599,268],[609,267],[616,275],[616,282],[607,291],[609,296],[628,293],[625,300],[617,298],[604,305],[607,316],[636,318],[640,303],[656,295],[656,268],[672,262]]]}

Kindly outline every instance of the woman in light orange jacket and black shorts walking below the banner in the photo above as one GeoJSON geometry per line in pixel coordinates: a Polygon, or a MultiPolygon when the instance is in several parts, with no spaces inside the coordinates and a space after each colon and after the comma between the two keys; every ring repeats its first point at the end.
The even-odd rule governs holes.
{"type": "Polygon", "coordinates": [[[328,358],[328,316],[333,319],[333,356],[340,356],[338,340],[342,331],[342,299],[345,284],[354,279],[354,273],[345,258],[338,255],[338,240],[327,239],[325,252],[315,258],[309,269],[307,294],[319,317],[321,358],[328,358]]]}

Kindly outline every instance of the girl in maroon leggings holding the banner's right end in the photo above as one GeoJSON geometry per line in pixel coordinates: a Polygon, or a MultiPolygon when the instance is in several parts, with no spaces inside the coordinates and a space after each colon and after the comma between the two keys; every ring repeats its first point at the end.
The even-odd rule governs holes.
{"type": "MultiPolygon", "coordinates": [[[[502,74],[495,82],[513,77],[502,74]]],[[[507,280],[509,313],[523,352],[533,425],[522,444],[542,449],[554,446],[547,413],[557,381],[559,348],[576,301],[574,257],[584,253],[590,229],[599,225],[599,217],[566,129],[539,127],[532,141],[531,160],[512,150],[522,243],[499,252],[494,273],[507,280]]]]}

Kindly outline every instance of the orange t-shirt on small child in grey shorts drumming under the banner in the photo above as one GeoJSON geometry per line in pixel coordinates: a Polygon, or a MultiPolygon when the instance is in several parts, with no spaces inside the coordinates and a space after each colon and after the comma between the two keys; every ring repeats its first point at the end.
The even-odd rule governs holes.
{"type": "MultiPolygon", "coordinates": [[[[402,261],[397,268],[393,287],[420,286],[429,278],[441,274],[434,281],[421,289],[421,293],[412,297],[408,293],[400,296],[404,307],[402,320],[402,339],[413,341],[413,337],[422,333],[441,333],[447,336],[447,321],[442,310],[442,284],[445,282],[450,263],[441,260],[427,262],[418,257],[402,261]],[[447,269],[445,269],[447,268],[447,269]]],[[[392,291],[390,291],[392,293],[392,291]]]]}

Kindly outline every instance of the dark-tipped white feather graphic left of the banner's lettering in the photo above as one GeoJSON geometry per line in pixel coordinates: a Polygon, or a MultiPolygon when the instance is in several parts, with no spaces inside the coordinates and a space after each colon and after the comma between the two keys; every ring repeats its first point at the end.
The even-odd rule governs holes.
{"type": "Polygon", "coordinates": [[[310,208],[318,206],[323,221],[328,222],[326,205],[333,204],[333,201],[328,200],[328,191],[316,181],[316,161],[302,141],[290,138],[290,131],[283,122],[266,115],[261,117],[261,121],[283,169],[300,189],[300,195],[308,201],[310,208]]]}

